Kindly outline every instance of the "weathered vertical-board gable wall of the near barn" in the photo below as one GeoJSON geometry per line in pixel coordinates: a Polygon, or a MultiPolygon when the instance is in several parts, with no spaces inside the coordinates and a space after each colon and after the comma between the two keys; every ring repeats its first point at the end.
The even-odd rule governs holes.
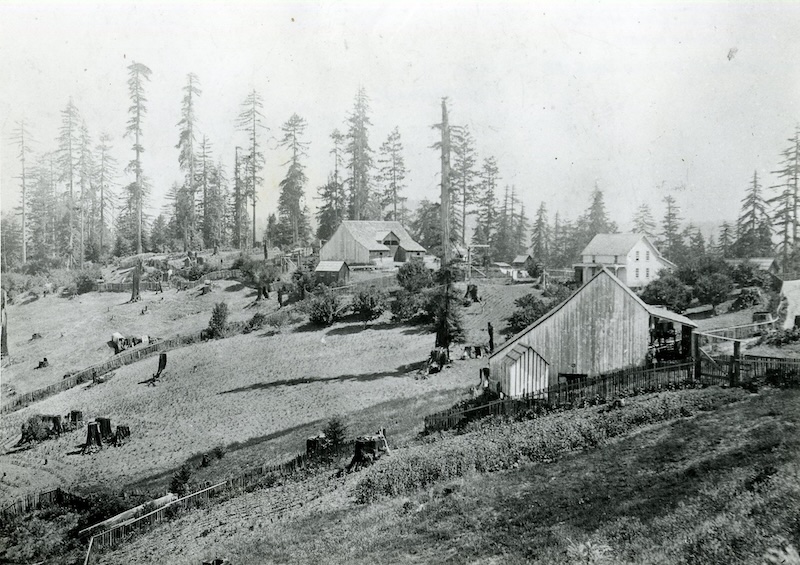
{"type": "MultiPolygon", "coordinates": [[[[513,357],[512,351],[517,345],[533,349],[549,365],[550,385],[558,382],[560,373],[594,376],[644,365],[650,315],[641,299],[603,270],[566,301],[503,344],[489,359],[490,382],[500,382],[501,387],[510,386],[506,359],[513,357]]],[[[505,390],[510,394],[510,389],[505,390]]]]}

